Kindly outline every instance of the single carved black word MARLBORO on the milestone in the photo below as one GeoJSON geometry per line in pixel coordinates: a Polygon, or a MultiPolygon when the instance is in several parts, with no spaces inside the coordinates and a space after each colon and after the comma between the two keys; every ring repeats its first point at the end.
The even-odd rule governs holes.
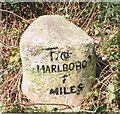
{"type": "MultiPolygon", "coordinates": [[[[89,58],[88,58],[89,59],[89,58]]],[[[59,73],[67,71],[79,71],[87,67],[89,61],[75,61],[74,63],[68,64],[52,64],[52,65],[37,65],[37,72],[40,73],[59,73]]]]}

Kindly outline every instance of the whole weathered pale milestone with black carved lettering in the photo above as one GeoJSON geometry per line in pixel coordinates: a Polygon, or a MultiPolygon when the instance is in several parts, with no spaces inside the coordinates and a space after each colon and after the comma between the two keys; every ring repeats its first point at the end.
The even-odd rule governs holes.
{"type": "Polygon", "coordinates": [[[92,87],[93,39],[62,16],[35,20],[22,35],[20,54],[22,90],[31,102],[78,106],[92,87]]]}

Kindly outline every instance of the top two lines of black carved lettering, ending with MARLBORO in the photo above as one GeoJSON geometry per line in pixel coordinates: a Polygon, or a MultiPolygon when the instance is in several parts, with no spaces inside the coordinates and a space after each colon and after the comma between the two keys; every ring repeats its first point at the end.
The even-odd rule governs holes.
{"type": "MultiPolygon", "coordinates": [[[[48,51],[50,55],[50,61],[58,61],[58,60],[67,61],[72,55],[72,52],[70,52],[69,50],[60,52],[58,50],[58,47],[46,48],[43,50],[48,51]]],[[[87,67],[87,64],[90,61],[91,61],[91,56],[89,55],[88,59],[83,60],[83,61],[77,60],[75,62],[66,63],[66,64],[37,65],[36,67],[37,67],[37,72],[38,73],[42,72],[43,74],[44,73],[68,72],[72,70],[79,71],[87,67]]]]}

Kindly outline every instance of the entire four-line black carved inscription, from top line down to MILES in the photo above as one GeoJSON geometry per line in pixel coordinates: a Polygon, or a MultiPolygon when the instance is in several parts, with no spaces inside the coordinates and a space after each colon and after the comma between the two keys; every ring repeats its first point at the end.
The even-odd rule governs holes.
{"type": "Polygon", "coordinates": [[[73,93],[79,93],[83,90],[84,85],[82,82],[79,83],[79,85],[66,87],[64,84],[67,81],[67,77],[70,76],[70,71],[80,71],[81,69],[84,69],[88,66],[88,63],[91,62],[91,55],[87,57],[86,60],[76,60],[74,62],[68,62],[70,57],[72,56],[72,52],[70,50],[60,51],[58,47],[53,48],[46,48],[43,49],[44,51],[47,51],[49,53],[49,59],[50,61],[66,61],[63,64],[46,64],[46,65],[37,65],[37,73],[59,73],[63,72],[64,75],[60,76],[60,79],[62,79],[63,86],[60,87],[53,87],[50,88],[49,94],[51,95],[66,95],[66,94],[73,94],[73,93]],[[69,74],[68,74],[69,72],[69,74]]]}

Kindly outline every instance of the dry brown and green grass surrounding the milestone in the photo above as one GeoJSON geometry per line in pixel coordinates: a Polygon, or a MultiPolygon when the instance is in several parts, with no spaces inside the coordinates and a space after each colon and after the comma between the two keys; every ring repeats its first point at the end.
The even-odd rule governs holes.
{"type": "MultiPolygon", "coordinates": [[[[3,44],[2,111],[45,112],[46,108],[30,105],[21,91],[21,60],[19,42],[21,34],[41,15],[63,15],[86,31],[95,41],[97,56],[96,83],[81,102],[80,111],[119,112],[119,8],[113,3],[4,3],[0,42],[3,44]],[[10,11],[10,12],[8,12],[10,11]],[[12,13],[12,12],[14,13],[12,13]],[[22,18],[21,18],[22,17],[22,18]],[[23,105],[24,104],[24,105],[23,105]],[[26,105],[25,105],[26,104],[26,105]]],[[[78,111],[74,107],[71,111],[78,111]]],[[[53,111],[59,111],[57,109],[53,111]]]]}

